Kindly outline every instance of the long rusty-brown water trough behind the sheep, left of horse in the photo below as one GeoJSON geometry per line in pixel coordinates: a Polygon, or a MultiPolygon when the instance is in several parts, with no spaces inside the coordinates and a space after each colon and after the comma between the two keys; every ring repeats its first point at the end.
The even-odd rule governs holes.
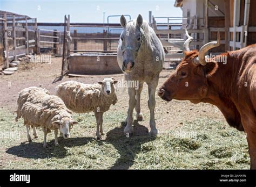
{"type": "Polygon", "coordinates": [[[121,74],[117,55],[113,53],[73,53],[69,55],[69,74],[121,74]]]}

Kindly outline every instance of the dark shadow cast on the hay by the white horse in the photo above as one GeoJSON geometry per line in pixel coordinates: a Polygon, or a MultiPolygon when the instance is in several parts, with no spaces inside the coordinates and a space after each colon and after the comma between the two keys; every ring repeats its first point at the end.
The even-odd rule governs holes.
{"type": "Polygon", "coordinates": [[[111,143],[118,151],[120,157],[110,169],[129,169],[137,153],[141,151],[141,145],[156,138],[149,135],[147,128],[140,125],[137,120],[133,121],[134,133],[130,138],[124,135],[125,124],[107,132],[106,140],[111,143]]]}

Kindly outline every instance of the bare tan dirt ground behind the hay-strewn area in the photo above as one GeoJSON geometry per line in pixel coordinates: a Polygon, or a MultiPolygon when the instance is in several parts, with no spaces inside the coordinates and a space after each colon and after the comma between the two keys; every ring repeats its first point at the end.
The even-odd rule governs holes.
{"type": "MultiPolygon", "coordinates": [[[[61,57],[53,57],[51,64],[35,63],[26,68],[19,68],[19,70],[12,75],[0,75],[0,108],[14,112],[17,107],[18,92],[24,88],[31,86],[46,88],[50,93],[55,94],[55,87],[65,81],[76,80],[83,83],[96,83],[103,80],[104,77],[114,77],[117,80],[123,79],[123,74],[117,75],[99,75],[86,77],[64,77],[62,81],[52,83],[56,77],[60,75],[61,57]]],[[[159,84],[161,85],[174,70],[163,70],[160,74],[159,84]]],[[[127,110],[128,99],[127,90],[118,89],[118,110],[127,110]]],[[[142,112],[144,116],[149,116],[149,109],[147,107],[147,86],[144,84],[142,92],[142,112]]],[[[217,107],[211,104],[199,103],[192,104],[189,101],[173,100],[170,103],[165,102],[156,96],[156,123],[161,121],[161,125],[157,125],[160,132],[164,133],[173,126],[180,125],[185,120],[194,120],[200,117],[208,117],[211,119],[223,120],[225,119],[217,107]]],[[[142,122],[143,125],[149,127],[149,121],[142,122]]]]}

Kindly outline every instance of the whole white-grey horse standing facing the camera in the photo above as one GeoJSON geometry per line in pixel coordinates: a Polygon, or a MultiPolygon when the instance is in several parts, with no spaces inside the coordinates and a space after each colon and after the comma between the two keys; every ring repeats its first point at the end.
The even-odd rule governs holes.
{"type": "Polygon", "coordinates": [[[133,109],[137,112],[136,118],[142,121],[140,112],[140,93],[145,82],[149,87],[148,105],[150,109],[150,135],[156,136],[158,130],[154,120],[154,107],[156,106],[155,92],[159,74],[163,69],[164,48],[154,30],[139,15],[137,20],[126,22],[125,17],[120,17],[124,30],[120,35],[117,48],[117,61],[124,71],[126,81],[138,81],[139,88],[128,88],[129,109],[125,123],[124,133],[133,133],[133,109]]]}

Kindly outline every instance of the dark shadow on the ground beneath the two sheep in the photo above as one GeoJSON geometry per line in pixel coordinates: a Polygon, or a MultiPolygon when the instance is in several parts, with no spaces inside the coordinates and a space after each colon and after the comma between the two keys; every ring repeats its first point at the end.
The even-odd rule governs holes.
{"type": "MultiPolygon", "coordinates": [[[[54,140],[51,140],[47,142],[47,148],[43,148],[42,142],[34,142],[32,140],[29,143],[21,143],[19,146],[10,147],[6,150],[6,153],[28,159],[64,158],[68,155],[68,150],[65,147],[82,146],[96,140],[90,137],[69,138],[66,140],[59,138],[59,146],[55,146],[54,140]]],[[[100,141],[97,142],[102,143],[100,141]]]]}

